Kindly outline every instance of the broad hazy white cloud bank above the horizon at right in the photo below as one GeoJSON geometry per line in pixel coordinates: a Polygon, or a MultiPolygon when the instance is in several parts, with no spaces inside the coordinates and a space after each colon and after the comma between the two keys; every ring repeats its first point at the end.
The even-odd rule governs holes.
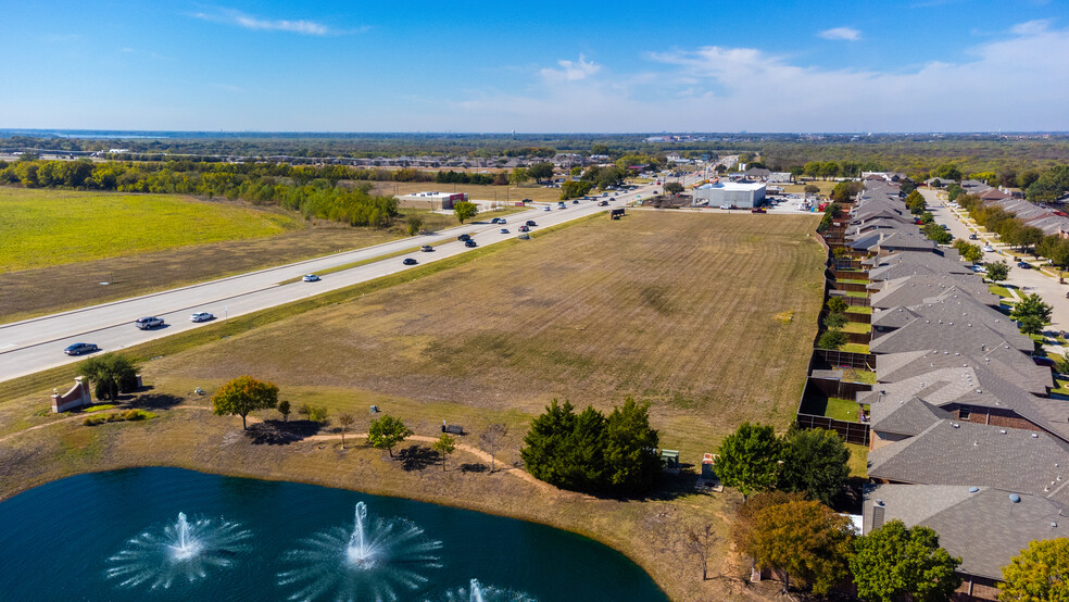
{"type": "MultiPolygon", "coordinates": [[[[439,127],[526,131],[990,131],[1069,129],[1069,29],[1020,24],[966,60],[834,70],[754,48],[652,53],[649,73],[562,61],[530,92],[482,90],[439,127]]],[[[430,126],[430,123],[424,127],[430,126]]]]}

